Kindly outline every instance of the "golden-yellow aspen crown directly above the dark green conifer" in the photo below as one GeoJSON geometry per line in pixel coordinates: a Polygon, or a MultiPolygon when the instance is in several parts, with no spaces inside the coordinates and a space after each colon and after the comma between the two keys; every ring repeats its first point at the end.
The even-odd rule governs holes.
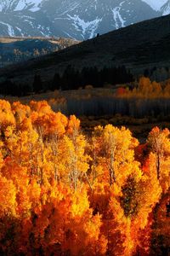
{"type": "MultiPolygon", "coordinates": [[[[137,147],[139,142],[132,137],[129,130],[124,127],[118,129],[112,125],[105,126],[102,132],[102,142],[102,154],[109,171],[109,183],[122,183],[122,179],[128,175],[125,173],[129,170],[126,166],[134,161],[133,148],[137,147]]],[[[139,172],[138,163],[133,166],[133,172],[139,172]]]]}

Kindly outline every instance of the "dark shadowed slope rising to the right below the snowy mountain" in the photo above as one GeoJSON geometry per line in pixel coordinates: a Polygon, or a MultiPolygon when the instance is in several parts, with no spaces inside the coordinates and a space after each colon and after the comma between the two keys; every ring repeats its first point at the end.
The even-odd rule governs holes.
{"type": "Polygon", "coordinates": [[[133,74],[149,73],[150,76],[169,77],[170,67],[170,15],[147,20],[109,32],[63,49],[51,55],[25,62],[22,67],[13,66],[0,70],[0,82],[32,84],[35,74],[42,83],[54,79],[68,65],[82,67],[122,67],[133,74]],[[159,69],[161,68],[161,69],[159,69]]]}

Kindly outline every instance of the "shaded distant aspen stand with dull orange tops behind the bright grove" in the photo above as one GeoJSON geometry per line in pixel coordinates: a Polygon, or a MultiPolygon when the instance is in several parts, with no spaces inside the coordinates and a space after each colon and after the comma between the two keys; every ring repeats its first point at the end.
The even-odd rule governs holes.
{"type": "MultiPolygon", "coordinates": [[[[89,87],[91,88],[91,87],[89,87]]],[[[93,89],[93,88],[91,88],[93,89]]],[[[59,108],[65,114],[75,113],[77,116],[102,116],[105,114],[131,116],[134,118],[154,117],[168,120],[170,116],[170,80],[163,83],[151,82],[141,77],[139,82],[103,90],[102,94],[94,94],[94,90],[86,90],[77,95],[67,96],[65,102],[51,102],[54,110],[59,108]]]]}

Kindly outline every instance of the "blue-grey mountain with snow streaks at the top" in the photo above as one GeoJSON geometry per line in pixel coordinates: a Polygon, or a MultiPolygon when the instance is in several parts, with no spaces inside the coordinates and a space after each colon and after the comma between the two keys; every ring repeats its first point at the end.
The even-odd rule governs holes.
{"type": "Polygon", "coordinates": [[[84,40],[169,13],[169,0],[1,0],[0,36],[84,40]]]}

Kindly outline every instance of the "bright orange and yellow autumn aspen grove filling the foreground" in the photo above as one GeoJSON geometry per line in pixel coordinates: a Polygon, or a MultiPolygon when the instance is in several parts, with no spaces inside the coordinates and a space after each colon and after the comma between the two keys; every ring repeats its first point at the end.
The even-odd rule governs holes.
{"type": "Polygon", "coordinates": [[[167,255],[170,131],[80,125],[0,101],[0,255],[167,255]]]}

